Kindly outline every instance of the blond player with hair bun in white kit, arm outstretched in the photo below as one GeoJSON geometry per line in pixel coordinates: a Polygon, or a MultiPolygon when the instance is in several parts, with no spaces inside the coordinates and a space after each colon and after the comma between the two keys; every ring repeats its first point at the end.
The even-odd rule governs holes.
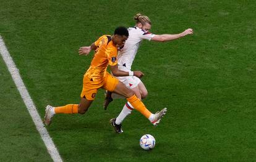
{"type": "MultiPolygon", "coordinates": [[[[182,38],[187,34],[193,34],[193,30],[188,28],[179,34],[152,34],[149,32],[151,28],[151,21],[146,15],[136,14],[134,16],[134,20],[136,21],[136,25],[134,27],[128,28],[129,38],[127,39],[124,46],[120,49],[117,55],[118,60],[118,68],[122,71],[129,71],[130,76],[121,76],[116,77],[122,83],[126,84],[127,87],[134,91],[135,95],[139,99],[145,99],[148,95],[148,91],[142,81],[139,78],[132,75],[131,67],[132,62],[135,59],[135,55],[139,49],[140,43],[142,43],[143,39],[147,39],[148,41],[156,41],[156,42],[166,42],[172,41],[174,39],[182,38]]],[[[104,103],[104,108],[108,107],[108,104],[119,95],[113,94],[111,92],[106,91],[106,99],[104,103]]],[[[117,118],[113,118],[110,120],[110,123],[114,127],[114,130],[117,133],[122,133],[122,121],[126,118],[127,115],[131,113],[134,108],[132,105],[127,102],[122,108],[121,113],[117,116],[117,118]]]]}

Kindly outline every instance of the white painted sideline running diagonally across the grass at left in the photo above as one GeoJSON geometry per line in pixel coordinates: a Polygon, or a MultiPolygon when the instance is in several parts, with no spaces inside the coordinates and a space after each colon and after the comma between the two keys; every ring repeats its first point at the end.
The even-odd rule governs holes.
{"type": "Polygon", "coordinates": [[[41,120],[40,115],[36,110],[33,100],[28,94],[27,88],[25,87],[25,84],[23,83],[22,78],[20,77],[19,70],[17,69],[14,61],[12,60],[11,55],[7,51],[6,45],[4,44],[4,41],[1,35],[0,35],[0,53],[2,55],[2,59],[4,59],[4,62],[6,63],[7,68],[12,75],[12,79],[14,80],[14,83],[17,86],[17,89],[19,90],[25,105],[27,106],[28,112],[30,113],[30,116],[32,117],[33,122],[35,123],[37,131],[40,133],[40,136],[43,139],[43,142],[45,142],[48,153],[51,155],[51,158],[53,159],[53,161],[62,161],[61,156],[59,155],[59,152],[53,143],[53,140],[51,140],[51,137],[49,136],[48,131],[44,127],[43,121],[41,120]]]}

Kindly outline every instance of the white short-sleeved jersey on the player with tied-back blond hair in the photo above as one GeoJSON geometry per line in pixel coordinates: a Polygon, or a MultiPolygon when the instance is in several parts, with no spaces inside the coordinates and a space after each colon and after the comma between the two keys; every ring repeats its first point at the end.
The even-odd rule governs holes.
{"type": "Polygon", "coordinates": [[[144,31],[138,27],[128,28],[129,38],[126,40],[124,47],[120,49],[117,55],[119,70],[129,71],[134,62],[135,55],[139,49],[140,43],[143,39],[151,40],[155,34],[144,31]]]}

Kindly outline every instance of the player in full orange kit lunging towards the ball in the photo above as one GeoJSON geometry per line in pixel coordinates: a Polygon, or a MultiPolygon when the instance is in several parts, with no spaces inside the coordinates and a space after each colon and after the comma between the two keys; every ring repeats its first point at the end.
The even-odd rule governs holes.
{"type": "Polygon", "coordinates": [[[127,101],[130,102],[134,109],[148,118],[153,125],[157,125],[160,122],[160,119],[167,111],[166,108],[163,108],[163,110],[158,113],[151,113],[131,89],[106,71],[108,65],[110,65],[111,72],[114,76],[137,76],[138,78],[143,76],[141,71],[122,71],[117,67],[117,49],[118,47],[124,46],[128,36],[129,32],[127,29],[121,26],[116,28],[113,36],[103,35],[95,41],[95,43],[92,43],[91,46],[80,47],[80,55],[88,55],[90,51],[95,50],[92,63],[83,76],[83,89],[80,95],[80,103],[68,104],[62,107],[46,106],[45,124],[47,126],[51,124],[51,119],[55,114],[84,114],[92,104],[100,88],[126,97],[127,101]]]}

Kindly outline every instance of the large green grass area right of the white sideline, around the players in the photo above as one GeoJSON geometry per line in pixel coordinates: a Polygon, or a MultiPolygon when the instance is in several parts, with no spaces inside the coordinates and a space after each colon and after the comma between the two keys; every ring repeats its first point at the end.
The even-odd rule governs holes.
{"type": "MultiPolygon", "coordinates": [[[[108,121],[124,100],[104,111],[100,90],[85,115],[54,116],[49,134],[64,161],[255,161],[255,5],[230,0],[2,1],[0,33],[43,118],[48,104],[79,103],[82,76],[92,58],[79,56],[80,46],[112,34],[116,26],[134,25],[137,12],[151,18],[156,34],[193,28],[193,36],[172,43],[144,41],[135,59],[133,69],[146,75],[145,105],[151,111],[168,107],[158,128],[134,111],[124,121],[124,134],[114,134],[108,121]],[[156,139],[150,152],[139,147],[143,134],[156,139]]],[[[9,95],[5,88],[2,97],[9,95]]],[[[15,104],[11,97],[4,103],[15,104]]]]}

